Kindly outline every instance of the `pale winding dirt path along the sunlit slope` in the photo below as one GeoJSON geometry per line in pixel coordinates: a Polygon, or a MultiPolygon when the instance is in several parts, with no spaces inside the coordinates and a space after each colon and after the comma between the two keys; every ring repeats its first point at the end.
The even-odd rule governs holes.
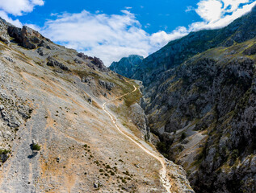
{"type": "MultiPolygon", "coordinates": [[[[127,81],[127,82],[129,82],[129,81],[127,81]]],[[[134,90],[133,90],[132,92],[136,92],[136,90],[137,90],[136,86],[133,85],[133,87],[134,87],[134,90]]],[[[160,157],[156,152],[147,149],[147,148],[146,148],[145,146],[143,146],[141,143],[136,142],[136,140],[135,140],[136,137],[135,137],[135,136],[130,137],[127,133],[124,133],[124,131],[123,131],[122,129],[120,129],[120,127],[116,124],[115,118],[114,118],[114,117],[111,115],[111,113],[109,113],[109,112],[107,111],[107,109],[106,109],[107,103],[111,103],[112,101],[118,100],[118,99],[122,98],[123,96],[126,96],[126,95],[128,95],[128,94],[131,94],[132,92],[128,92],[128,93],[126,93],[126,94],[124,94],[124,95],[122,95],[122,96],[116,97],[116,98],[113,99],[113,100],[110,100],[110,101],[105,102],[105,103],[103,104],[103,111],[104,111],[105,113],[107,113],[109,117],[111,117],[112,123],[115,125],[115,128],[116,128],[121,134],[123,134],[126,138],[128,138],[128,139],[129,139],[130,141],[132,141],[133,143],[135,143],[136,146],[138,146],[138,147],[141,148],[141,150],[144,150],[146,154],[149,154],[150,156],[152,156],[153,158],[157,159],[157,160],[161,163],[162,169],[159,170],[160,179],[161,179],[161,182],[162,182],[163,187],[166,188],[166,191],[167,191],[168,193],[171,193],[171,191],[170,191],[170,187],[171,187],[171,185],[170,185],[170,179],[169,179],[168,176],[167,176],[166,161],[165,161],[165,159],[162,158],[162,157],[160,157]]],[[[139,140],[137,140],[137,141],[139,141],[139,140]]]]}

